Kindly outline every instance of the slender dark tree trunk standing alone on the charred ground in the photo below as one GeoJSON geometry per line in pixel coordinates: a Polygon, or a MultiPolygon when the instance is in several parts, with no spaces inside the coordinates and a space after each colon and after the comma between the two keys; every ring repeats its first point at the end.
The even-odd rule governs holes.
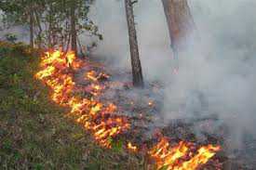
{"type": "Polygon", "coordinates": [[[133,15],[133,4],[131,0],[125,0],[127,21],[128,21],[128,36],[129,36],[129,47],[132,67],[132,77],[134,86],[143,86],[143,77],[141,70],[141,60],[139,56],[139,47],[136,35],[136,28],[133,15]]]}

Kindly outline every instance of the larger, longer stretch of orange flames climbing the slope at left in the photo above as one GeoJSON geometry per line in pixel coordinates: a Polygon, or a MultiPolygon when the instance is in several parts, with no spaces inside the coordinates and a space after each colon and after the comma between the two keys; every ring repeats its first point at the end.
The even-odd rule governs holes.
{"type": "MultiPolygon", "coordinates": [[[[53,101],[71,108],[70,114],[76,117],[76,122],[90,130],[101,146],[111,148],[111,137],[127,131],[130,124],[127,117],[114,114],[116,106],[113,103],[103,104],[94,98],[74,97],[73,92],[77,89],[70,72],[79,66],[81,61],[75,59],[72,51],[66,54],[61,50],[47,52],[41,61],[42,71],[37,72],[35,77],[52,89],[53,101]]],[[[89,86],[90,93],[99,96],[104,87],[97,81],[108,75],[100,73],[96,76],[96,72],[88,72],[87,77],[93,82],[89,86]]]]}

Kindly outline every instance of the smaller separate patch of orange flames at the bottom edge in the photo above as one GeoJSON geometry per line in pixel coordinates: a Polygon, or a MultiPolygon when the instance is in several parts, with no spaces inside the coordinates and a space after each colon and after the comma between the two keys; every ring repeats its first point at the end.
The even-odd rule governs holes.
{"type": "Polygon", "coordinates": [[[162,137],[155,147],[149,150],[149,155],[155,159],[157,169],[195,170],[200,165],[208,163],[209,159],[221,150],[219,146],[209,145],[201,147],[194,154],[190,150],[190,145],[189,142],[181,141],[178,145],[171,147],[168,139],[162,137]]]}

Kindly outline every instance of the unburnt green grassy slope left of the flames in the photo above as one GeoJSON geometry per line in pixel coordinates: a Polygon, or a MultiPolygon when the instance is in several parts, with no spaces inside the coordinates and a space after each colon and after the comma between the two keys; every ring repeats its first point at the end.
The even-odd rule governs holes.
{"type": "Polygon", "coordinates": [[[140,169],[122,150],[103,150],[34,79],[38,55],[0,42],[0,169],[140,169]]]}

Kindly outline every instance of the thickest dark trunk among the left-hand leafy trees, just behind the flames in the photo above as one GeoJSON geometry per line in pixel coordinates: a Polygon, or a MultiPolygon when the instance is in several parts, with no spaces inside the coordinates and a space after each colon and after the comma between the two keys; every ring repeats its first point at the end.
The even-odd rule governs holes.
{"type": "Polygon", "coordinates": [[[74,51],[75,56],[77,56],[77,33],[75,26],[75,4],[73,2],[71,7],[71,49],[74,51]]]}

